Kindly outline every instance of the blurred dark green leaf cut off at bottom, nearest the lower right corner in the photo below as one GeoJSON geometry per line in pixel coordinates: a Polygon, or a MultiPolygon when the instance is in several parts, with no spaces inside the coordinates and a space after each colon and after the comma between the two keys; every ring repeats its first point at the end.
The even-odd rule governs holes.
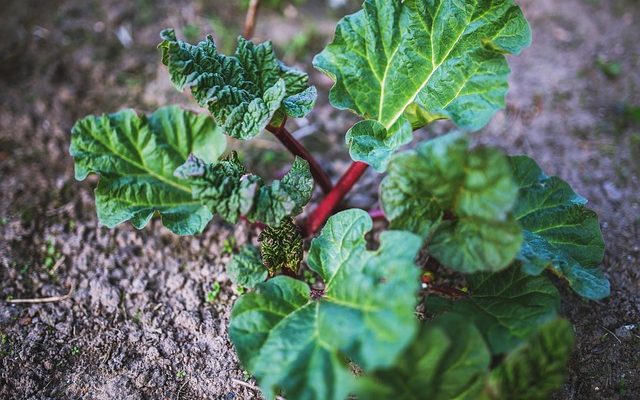
{"type": "Polygon", "coordinates": [[[483,399],[550,399],[564,383],[573,341],[569,322],[558,319],[545,324],[491,372],[483,399]]]}

